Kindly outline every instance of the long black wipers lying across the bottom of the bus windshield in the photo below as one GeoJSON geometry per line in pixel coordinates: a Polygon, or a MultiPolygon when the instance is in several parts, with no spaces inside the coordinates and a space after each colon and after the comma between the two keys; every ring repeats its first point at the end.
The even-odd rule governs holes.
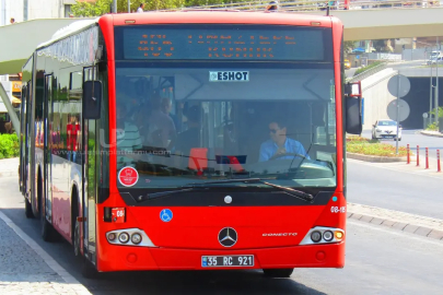
{"type": "Polygon", "coordinates": [[[179,189],[176,189],[176,190],[159,191],[159,192],[148,193],[145,196],[140,196],[137,198],[137,201],[142,202],[145,200],[152,200],[152,199],[166,197],[166,196],[174,194],[174,193],[187,192],[187,191],[191,191],[191,190],[196,190],[196,189],[208,189],[208,187],[207,187],[208,185],[224,185],[224,184],[235,184],[235,182],[263,184],[263,185],[267,185],[272,188],[277,188],[279,190],[283,190],[288,194],[300,198],[307,202],[312,202],[314,200],[314,196],[312,196],[311,193],[306,193],[306,192],[303,192],[303,191],[300,191],[296,189],[292,189],[292,188],[287,188],[287,187],[269,184],[260,178],[245,178],[245,179],[226,179],[226,180],[219,180],[219,181],[188,184],[188,185],[179,187],[179,189]]]}

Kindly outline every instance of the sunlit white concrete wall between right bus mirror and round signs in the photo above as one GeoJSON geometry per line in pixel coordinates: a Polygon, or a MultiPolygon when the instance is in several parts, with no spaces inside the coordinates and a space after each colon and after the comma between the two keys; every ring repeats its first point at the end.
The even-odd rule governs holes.
{"type": "Polygon", "coordinates": [[[395,74],[397,71],[388,68],[361,81],[364,98],[363,130],[371,130],[378,119],[388,119],[387,105],[396,97],[387,91],[387,82],[395,74]]]}

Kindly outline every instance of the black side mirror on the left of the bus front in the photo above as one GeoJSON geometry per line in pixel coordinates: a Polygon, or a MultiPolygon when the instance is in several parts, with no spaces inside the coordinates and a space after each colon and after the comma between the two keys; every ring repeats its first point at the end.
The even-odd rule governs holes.
{"type": "Polygon", "coordinates": [[[83,82],[83,118],[100,119],[100,106],[102,101],[102,82],[83,82]]]}

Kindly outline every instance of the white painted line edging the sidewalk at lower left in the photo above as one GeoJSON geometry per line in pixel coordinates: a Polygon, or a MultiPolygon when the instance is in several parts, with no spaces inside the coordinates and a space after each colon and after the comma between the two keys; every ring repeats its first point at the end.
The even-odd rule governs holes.
{"type": "Polygon", "coordinates": [[[66,283],[79,295],[91,293],[79,281],[75,280],[69,272],[63,269],[56,260],[54,260],[37,243],[26,235],[15,223],[13,223],[3,212],[0,211],[0,219],[11,227],[19,237],[21,237],[66,283]]]}

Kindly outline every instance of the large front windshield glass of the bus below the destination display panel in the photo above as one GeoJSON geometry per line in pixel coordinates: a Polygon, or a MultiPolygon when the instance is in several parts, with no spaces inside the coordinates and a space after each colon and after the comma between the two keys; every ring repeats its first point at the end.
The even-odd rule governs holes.
{"type": "Polygon", "coordinates": [[[137,188],[252,177],[289,187],[336,186],[331,71],[250,71],[252,80],[266,72],[270,84],[293,84],[293,93],[269,95],[268,84],[210,83],[200,78],[209,70],[183,78],[182,69],[117,68],[116,173],[135,167],[137,188]],[[183,83],[190,80],[199,83],[183,83]]]}

